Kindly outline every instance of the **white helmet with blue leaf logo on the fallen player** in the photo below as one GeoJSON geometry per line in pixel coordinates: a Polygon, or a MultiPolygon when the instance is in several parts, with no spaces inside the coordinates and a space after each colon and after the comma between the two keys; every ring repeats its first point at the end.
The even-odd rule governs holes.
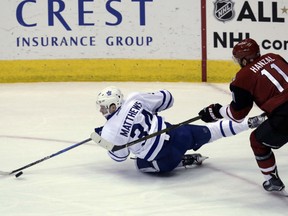
{"type": "Polygon", "coordinates": [[[101,90],[97,96],[96,104],[107,110],[105,117],[110,115],[109,108],[112,104],[115,104],[116,109],[118,109],[123,103],[123,94],[120,89],[115,86],[109,86],[101,90]]]}

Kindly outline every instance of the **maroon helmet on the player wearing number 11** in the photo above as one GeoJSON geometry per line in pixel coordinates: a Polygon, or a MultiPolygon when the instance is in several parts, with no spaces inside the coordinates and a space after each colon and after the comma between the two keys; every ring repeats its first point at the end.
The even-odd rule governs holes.
{"type": "Polygon", "coordinates": [[[259,45],[251,38],[246,38],[233,47],[234,59],[244,67],[260,57],[259,45]]]}

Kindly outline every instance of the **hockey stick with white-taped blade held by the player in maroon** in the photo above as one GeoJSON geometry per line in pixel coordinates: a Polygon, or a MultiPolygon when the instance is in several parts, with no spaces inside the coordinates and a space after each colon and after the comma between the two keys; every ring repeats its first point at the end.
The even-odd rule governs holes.
{"type": "Polygon", "coordinates": [[[188,120],[186,120],[186,121],[184,121],[184,122],[180,122],[180,123],[178,123],[178,124],[174,124],[174,125],[172,125],[172,126],[169,127],[169,128],[165,128],[165,129],[163,129],[163,130],[160,130],[160,131],[157,131],[157,132],[155,132],[155,133],[149,134],[149,135],[147,135],[147,136],[145,136],[145,137],[142,137],[142,138],[140,138],[140,139],[134,140],[134,141],[132,141],[132,142],[129,142],[129,143],[127,143],[127,144],[125,144],[125,145],[121,145],[121,146],[113,145],[112,143],[108,142],[107,140],[104,140],[104,139],[103,139],[101,136],[99,136],[97,133],[95,133],[95,137],[93,138],[93,141],[96,142],[98,145],[102,146],[103,148],[105,148],[105,149],[107,149],[107,150],[109,150],[109,151],[115,152],[115,151],[119,151],[119,150],[121,150],[121,149],[127,148],[127,147],[129,147],[129,146],[132,146],[132,145],[134,145],[134,144],[136,144],[136,143],[139,143],[139,142],[145,141],[145,140],[147,140],[147,139],[150,139],[150,138],[152,138],[152,137],[158,136],[158,135],[160,135],[160,134],[166,133],[166,132],[168,132],[168,131],[170,131],[170,130],[173,130],[173,129],[175,129],[175,128],[178,128],[178,127],[180,127],[180,126],[182,126],[182,125],[189,124],[189,123],[191,123],[191,122],[197,121],[197,120],[199,120],[199,119],[201,119],[201,116],[196,116],[196,117],[194,117],[194,118],[188,119],[188,120]]]}

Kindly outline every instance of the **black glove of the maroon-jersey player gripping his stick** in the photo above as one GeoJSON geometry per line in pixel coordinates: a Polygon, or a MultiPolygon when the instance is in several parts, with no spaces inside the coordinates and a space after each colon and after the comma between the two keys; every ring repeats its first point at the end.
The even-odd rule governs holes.
{"type": "Polygon", "coordinates": [[[198,115],[201,116],[201,120],[204,122],[216,122],[218,119],[223,118],[220,114],[220,109],[222,105],[211,104],[208,107],[202,109],[198,115]]]}

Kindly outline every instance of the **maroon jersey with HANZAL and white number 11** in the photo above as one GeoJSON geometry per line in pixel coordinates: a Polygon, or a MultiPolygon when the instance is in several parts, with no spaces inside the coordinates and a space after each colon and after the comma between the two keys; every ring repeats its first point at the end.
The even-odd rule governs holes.
{"type": "Polygon", "coordinates": [[[230,84],[233,101],[230,112],[234,119],[243,119],[253,102],[270,114],[288,101],[288,64],[279,55],[268,53],[241,68],[230,84]]]}

